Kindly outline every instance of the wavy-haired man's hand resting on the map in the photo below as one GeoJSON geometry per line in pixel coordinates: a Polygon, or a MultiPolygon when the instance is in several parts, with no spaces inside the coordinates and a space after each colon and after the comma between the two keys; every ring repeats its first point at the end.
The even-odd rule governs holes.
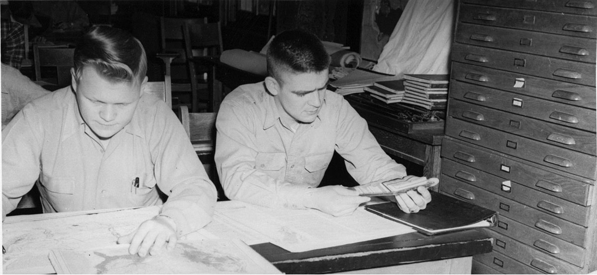
{"type": "Polygon", "coordinates": [[[117,242],[130,243],[128,252],[144,257],[147,252],[150,255],[158,255],[164,246],[170,251],[176,246],[177,240],[174,220],[165,215],[156,215],[151,220],[141,223],[134,232],[119,237],[117,242]]]}

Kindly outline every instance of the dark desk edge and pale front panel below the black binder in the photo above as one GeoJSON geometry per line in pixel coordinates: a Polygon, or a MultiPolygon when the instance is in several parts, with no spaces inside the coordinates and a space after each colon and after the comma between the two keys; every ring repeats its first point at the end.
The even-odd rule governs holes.
{"type": "Polygon", "coordinates": [[[288,274],[467,274],[472,255],[491,252],[491,238],[476,230],[425,236],[421,233],[291,253],[271,243],[252,245],[288,274]]]}

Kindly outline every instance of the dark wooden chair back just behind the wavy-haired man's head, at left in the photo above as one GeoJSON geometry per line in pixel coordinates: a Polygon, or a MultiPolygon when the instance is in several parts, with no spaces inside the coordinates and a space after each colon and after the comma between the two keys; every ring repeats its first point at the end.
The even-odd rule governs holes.
{"type": "Polygon", "coordinates": [[[70,85],[70,68],[73,67],[74,48],[55,48],[33,45],[33,63],[35,65],[35,81],[41,86],[55,85],[61,88],[70,85]],[[51,77],[42,76],[42,68],[53,67],[56,74],[51,77]]]}

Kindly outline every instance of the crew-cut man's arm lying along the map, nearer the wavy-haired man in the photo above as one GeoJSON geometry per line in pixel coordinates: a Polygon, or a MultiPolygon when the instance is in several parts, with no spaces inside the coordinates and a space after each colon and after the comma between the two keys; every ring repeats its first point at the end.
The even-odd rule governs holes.
{"type": "MultiPolygon", "coordinates": [[[[226,100],[218,112],[215,160],[229,199],[272,208],[314,208],[331,215],[350,214],[369,200],[341,186],[297,186],[259,171],[256,130],[263,125],[256,117],[247,106],[226,100]]],[[[285,162],[285,155],[281,154],[279,160],[269,160],[267,164],[285,162]]]]}

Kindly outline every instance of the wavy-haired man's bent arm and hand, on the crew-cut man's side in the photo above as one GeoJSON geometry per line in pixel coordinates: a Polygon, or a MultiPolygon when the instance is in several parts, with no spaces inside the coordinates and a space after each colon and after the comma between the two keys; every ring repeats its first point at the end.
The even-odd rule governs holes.
{"type": "Polygon", "coordinates": [[[147,135],[157,184],[168,199],[159,215],[118,239],[118,243],[131,243],[129,252],[141,257],[159,254],[166,243],[167,249],[174,248],[180,236],[210,223],[217,200],[216,187],[180,121],[165,104],[159,104],[158,110],[147,135]]]}

